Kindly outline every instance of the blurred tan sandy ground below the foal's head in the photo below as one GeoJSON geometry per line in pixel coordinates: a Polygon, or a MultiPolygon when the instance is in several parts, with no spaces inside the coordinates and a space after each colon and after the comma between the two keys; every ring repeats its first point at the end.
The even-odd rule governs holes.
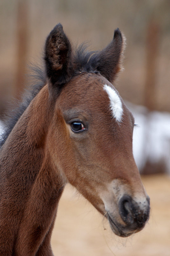
{"type": "Polygon", "coordinates": [[[146,227],[129,238],[115,236],[107,220],[67,185],[52,235],[55,256],[170,256],[170,176],[142,178],[151,199],[146,227]]]}

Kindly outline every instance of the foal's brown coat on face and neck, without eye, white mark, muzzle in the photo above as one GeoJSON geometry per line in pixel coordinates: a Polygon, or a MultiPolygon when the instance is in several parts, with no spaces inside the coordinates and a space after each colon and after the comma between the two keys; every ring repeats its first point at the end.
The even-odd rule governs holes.
{"type": "MultiPolygon", "coordinates": [[[[61,26],[55,28],[58,42],[65,45],[62,33],[61,26]]],[[[48,46],[51,44],[49,40],[48,46]]],[[[46,49],[51,51],[49,47],[46,49]]],[[[104,77],[105,72],[102,75],[81,72],[69,76],[71,68],[66,67],[67,71],[62,69],[71,65],[68,64],[72,59],[68,54],[71,48],[58,49],[64,52],[58,56],[56,50],[55,58],[49,52],[46,55],[47,68],[51,69],[47,72],[48,84],[31,101],[0,151],[2,256],[53,255],[51,233],[66,182],[75,186],[102,214],[106,210],[100,193],[107,190],[107,184],[112,180],[118,179],[127,185],[132,198],[136,194],[146,197],[133,159],[132,114],[123,104],[123,120],[116,122],[109,109],[109,98],[103,90],[105,83],[112,87],[104,77]],[[56,62],[59,63],[59,66],[56,64],[58,68],[56,62]],[[60,72],[56,73],[56,70],[60,72]],[[69,79],[62,88],[55,89],[58,84],[61,85],[61,76],[65,72],[69,79]],[[60,76],[59,83],[57,76],[60,76]],[[75,118],[85,123],[88,130],[72,132],[70,120],[75,118]]],[[[107,54],[108,49],[109,46],[107,54]]],[[[111,80],[119,70],[120,53],[113,74],[109,76],[111,80]]],[[[143,211],[141,214],[146,213],[143,211]]],[[[121,217],[119,219],[123,223],[121,225],[128,229],[126,221],[121,217]]],[[[138,219],[141,220],[141,216],[138,219]]],[[[143,226],[145,222],[142,222],[143,226]]],[[[139,227],[134,230],[139,231],[139,227]]]]}

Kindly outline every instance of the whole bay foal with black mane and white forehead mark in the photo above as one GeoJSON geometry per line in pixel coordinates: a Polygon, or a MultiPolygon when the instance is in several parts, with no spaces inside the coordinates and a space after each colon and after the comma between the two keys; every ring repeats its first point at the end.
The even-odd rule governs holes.
{"type": "Polygon", "coordinates": [[[52,256],[51,233],[67,182],[130,236],[149,217],[133,159],[134,118],[112,82],[121,69],[119,29],[99,52],[76,51],[61,24],[45,43],[45,82],[3,135],[0,255],[52,256]]]}

